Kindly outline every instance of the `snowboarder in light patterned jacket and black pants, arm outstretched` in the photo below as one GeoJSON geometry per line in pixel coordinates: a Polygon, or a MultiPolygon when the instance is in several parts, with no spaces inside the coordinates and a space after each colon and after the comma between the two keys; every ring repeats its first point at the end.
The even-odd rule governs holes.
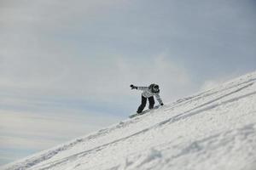
{"type": "Polygon", "coordinates": [[[143,90],[142,94],[142,104],[137,108],[137,114],[140,114],[143,112],[144,107],[147,104],[147,99],[149,101],[148,109],[154,108],[154,96],[160,103],[160,105],[164,105],[162,99],[160,98],[160,89],[159,85],[157,84],[150,84],[148,87],[137,87],[131,84],[131,89],[137,89],[137,90],[143,90]]]}

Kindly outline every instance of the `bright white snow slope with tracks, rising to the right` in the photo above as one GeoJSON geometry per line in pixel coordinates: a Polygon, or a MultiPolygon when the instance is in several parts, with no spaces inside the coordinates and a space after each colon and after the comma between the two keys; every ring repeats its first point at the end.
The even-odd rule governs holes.
{"type": "Polygon", "coordinates": [[[255,170],[256,72],[2,169],[255,170]]]}

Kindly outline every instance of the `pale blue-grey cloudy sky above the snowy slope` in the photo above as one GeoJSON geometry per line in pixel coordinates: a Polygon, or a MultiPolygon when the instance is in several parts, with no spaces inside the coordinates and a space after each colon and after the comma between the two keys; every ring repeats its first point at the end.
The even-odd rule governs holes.
{"type": "Polygon", "coordinates": [[[254,0],[0,0],[0,165],[256,70],[254,0]]]}

